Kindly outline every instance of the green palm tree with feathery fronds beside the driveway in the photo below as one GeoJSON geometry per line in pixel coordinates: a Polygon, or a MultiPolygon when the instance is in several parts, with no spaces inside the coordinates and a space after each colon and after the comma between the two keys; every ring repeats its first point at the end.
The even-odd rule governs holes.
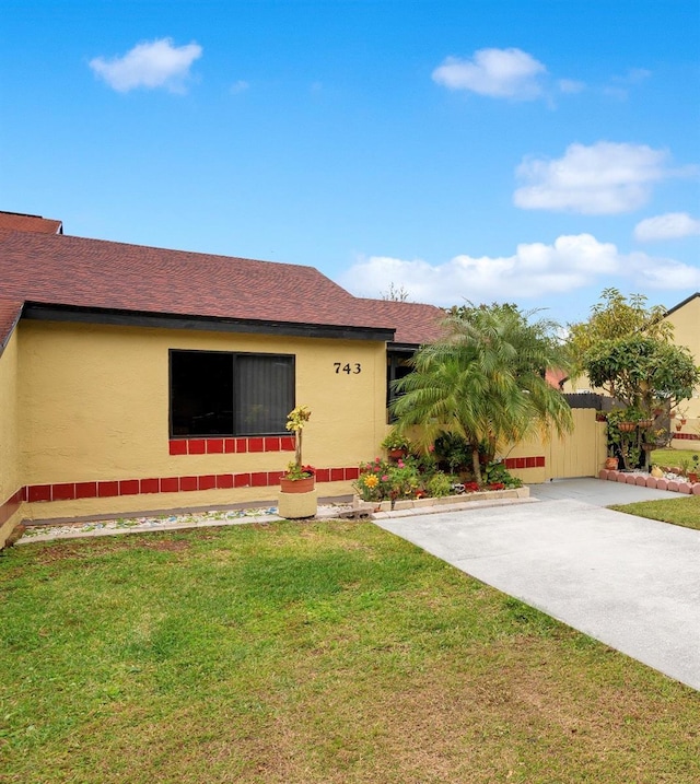
{"type": "Polygon", "coordinates": [[[545,378],[547,368],[568,366],[559,326],[530,321],[534,313],[495,303],[452,308],[445,337],[422,347],[413,371],[395,384],[399,429],[421,425],[428,443],[441,433],[463,437],[478,482],[480,452],[492,460],[536,430],[548,434],[553,425],[561,434],[572,428],[565,398],[545,378]]]}

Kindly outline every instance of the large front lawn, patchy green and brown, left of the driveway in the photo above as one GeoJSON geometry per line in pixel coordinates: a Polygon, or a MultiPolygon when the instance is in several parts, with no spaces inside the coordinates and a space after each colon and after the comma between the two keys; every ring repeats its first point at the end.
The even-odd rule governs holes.
{"type": "Polygon", "coordinates": [[[0,557],[3,784],[700,781],[700,694],[369,523],[0,557]]]}

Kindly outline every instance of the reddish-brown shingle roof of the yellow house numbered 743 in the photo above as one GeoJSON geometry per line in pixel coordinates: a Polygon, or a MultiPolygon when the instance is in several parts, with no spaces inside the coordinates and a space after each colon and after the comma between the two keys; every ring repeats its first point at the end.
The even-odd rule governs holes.
{"type": "Polygon", "coordinates": [[[313,267],[3,230],[0,296],[145,314],[397,329],[397,342],[416,343],[431,339],[439,312],[359,300],[313,267]]]}

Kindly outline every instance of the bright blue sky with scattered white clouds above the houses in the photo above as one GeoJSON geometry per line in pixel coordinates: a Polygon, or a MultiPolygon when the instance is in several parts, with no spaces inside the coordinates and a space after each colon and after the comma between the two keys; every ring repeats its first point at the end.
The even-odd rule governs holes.
{"type": "Polygon", "coordinates": [[[562,323],[605,286],[700,290],[697,0],[0,15],[2,210],[562,323]]]}

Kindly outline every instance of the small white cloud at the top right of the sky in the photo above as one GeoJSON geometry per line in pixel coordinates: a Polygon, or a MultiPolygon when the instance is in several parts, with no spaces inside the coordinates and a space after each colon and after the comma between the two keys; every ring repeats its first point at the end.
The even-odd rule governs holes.
{"type": "Polygon", "coordinates": [[[479,49],[471,60],[448,57],[433,80],[450,90],[469,90],[494,98],[530,101],[541,94],[545,66],[522,49],[479,49]]]}

